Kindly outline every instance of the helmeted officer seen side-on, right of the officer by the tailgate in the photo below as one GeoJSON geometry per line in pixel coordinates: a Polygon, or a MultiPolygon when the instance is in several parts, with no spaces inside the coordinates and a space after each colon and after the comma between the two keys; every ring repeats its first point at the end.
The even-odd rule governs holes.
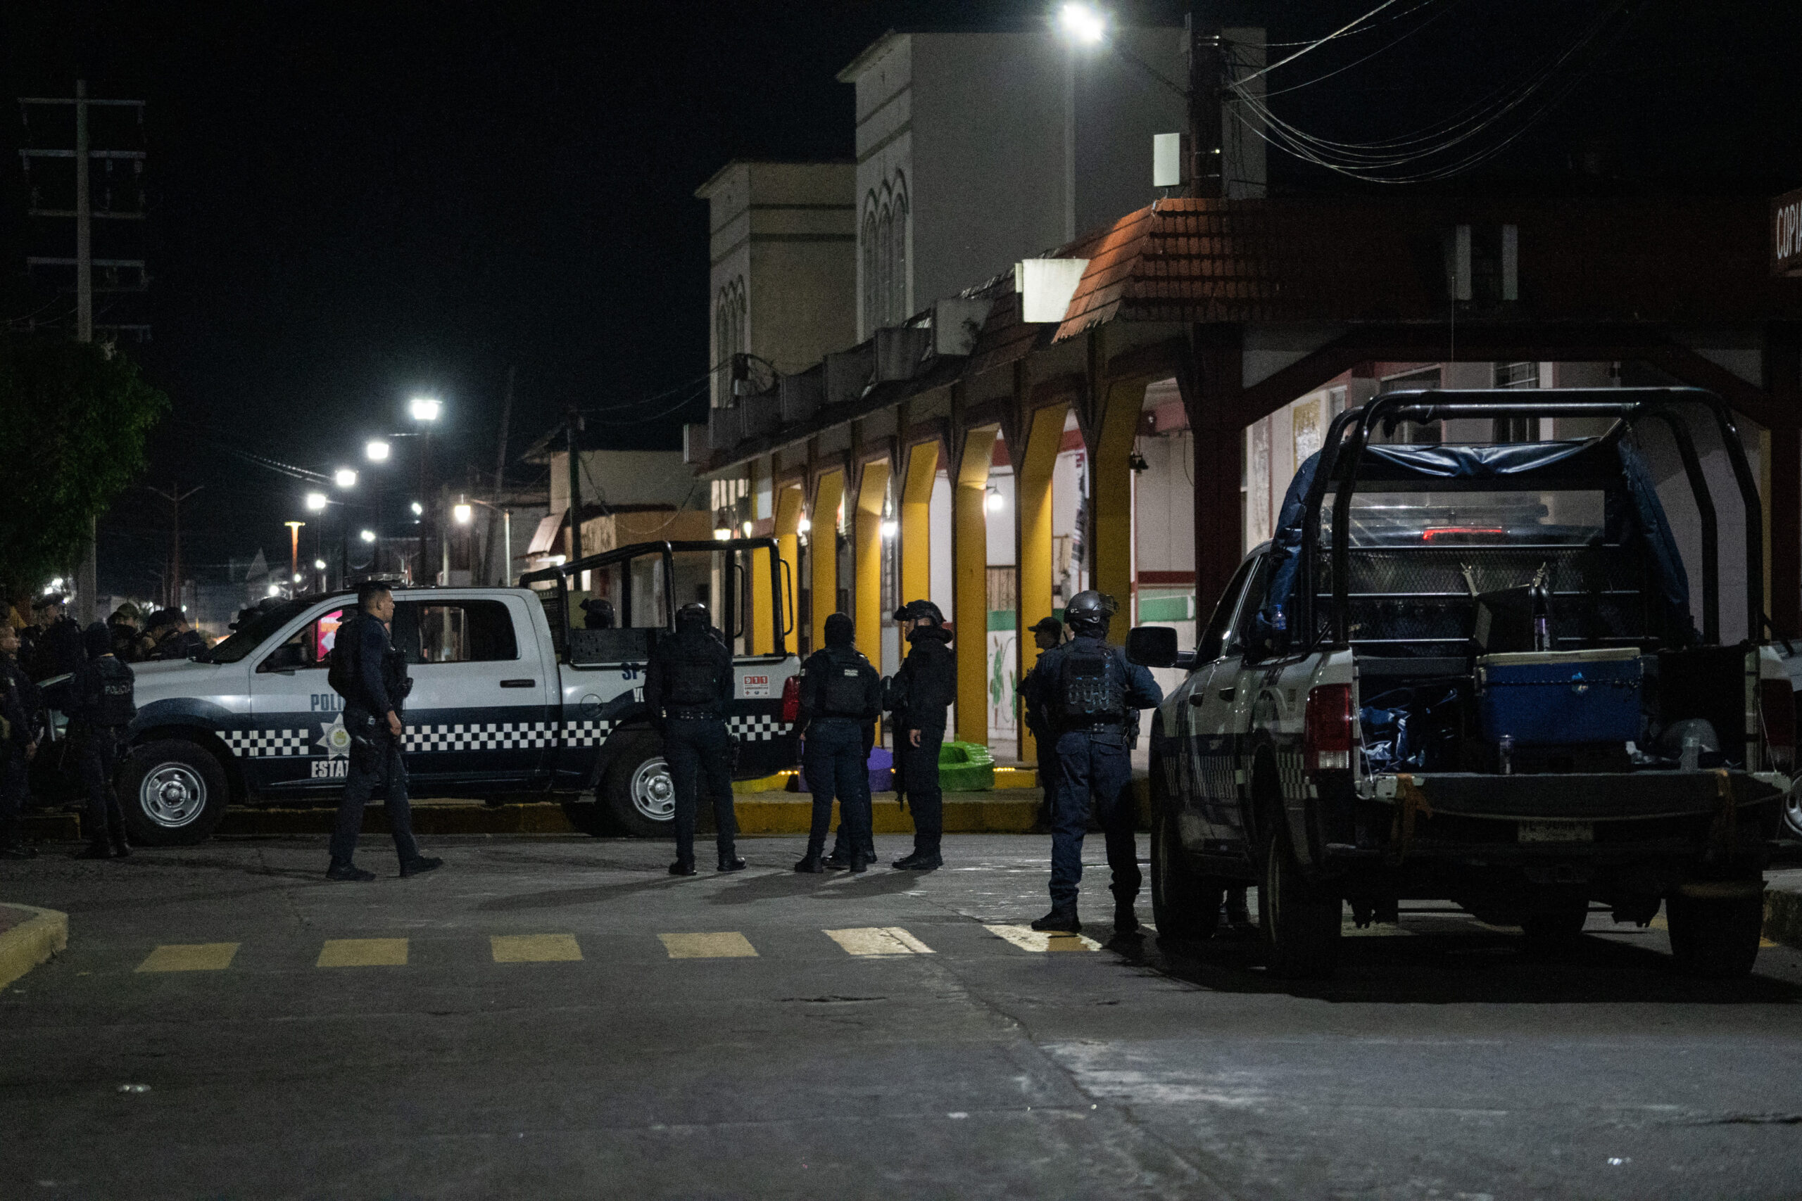
{"type": "Polygon", "coordinates": [[[957,700],[957,657],[946,643],[944,614],[928,600],[908,601],[897,614],[906,628],[906,663],[890,686],[896,765],[914,807],[914,853],[896,859],[903,871],[942,868],[939,839],[944,835],[944,792],[939,790],[939,747],[944,745],[944,711],[957,700]]]}

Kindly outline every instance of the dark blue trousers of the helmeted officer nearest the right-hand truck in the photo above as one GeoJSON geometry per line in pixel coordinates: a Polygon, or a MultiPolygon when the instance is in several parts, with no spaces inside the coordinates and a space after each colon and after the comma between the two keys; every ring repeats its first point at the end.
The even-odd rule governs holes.
{"type": "Polygon", "coordinates": [[[1114,731],[1072,729],[1058,736],[1056,792],[1051,798],[1051,904],[1076,904],[1083,882],[1083,835],[1088,807],[1108,841],[1114,888],[1139,891],[1139,846],[1133,837],[1132,756],[1114,731]]]}

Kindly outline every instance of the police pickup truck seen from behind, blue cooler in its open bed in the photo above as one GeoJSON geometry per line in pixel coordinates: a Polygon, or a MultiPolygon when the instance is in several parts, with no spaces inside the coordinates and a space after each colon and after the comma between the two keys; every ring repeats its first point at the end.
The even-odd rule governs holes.
{"type": "Polygon", "coordinates": [[[1151,735],[1159,931],[1206,938],[1222,889],[1256,882],[1270,969],[1321,976],[1344,902],[1364,926],[1449,898],[1541,940],[1575,936],[1591,902],[1640,926],[1663,904],[1679,967],[1748,972],[1797,726],[1755,641],[1761,553],[1739,432],[1708,393],[1391,393],[1339,414],[1197,652],[1128,639],[1189,668],[1151,735]],[[1734,645],[1697,414],[1744,513],[1734,645]],[[1375,445],[1397,423],[1515,418],[1607,430],[1375,445]],[[1651,438],[1692,495],[1701,630],[1651,438]]]}

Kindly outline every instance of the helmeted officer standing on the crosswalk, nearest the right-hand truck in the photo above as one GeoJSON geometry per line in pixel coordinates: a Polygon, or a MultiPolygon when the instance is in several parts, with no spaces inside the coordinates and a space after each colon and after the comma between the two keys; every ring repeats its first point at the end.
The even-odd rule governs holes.
{"type": "Polygon", "coordinates": [[[1040,931],[1081,929],[1076,891],[1083,879],[1083,834],[1088,805],[1108,843],[1114,873],[1114,929],[1139,929],[1133,898],[1139,895],[1139,848],[1133,834],[1132,758],[1126,742],[1132,709],[1148,709],[1164,699],[1151,673],[1108,646],[1114,598],[1078,592],[1063,610],[1070,641],[1040,655],[1038,672],[1025,682],[1027,706],[1051,715],[1058,735],[1056,790],[1051,832],[1051,913],[1033,922],[1040,931]]]}

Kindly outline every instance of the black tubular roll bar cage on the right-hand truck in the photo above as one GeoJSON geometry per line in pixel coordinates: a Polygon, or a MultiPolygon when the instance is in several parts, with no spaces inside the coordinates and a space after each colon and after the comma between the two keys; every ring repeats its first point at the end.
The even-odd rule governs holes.
{"type": "Polygon", "coordinates": [[[1352,493],[1357,488],[1357,470],[1370,445],[1370,432],[1380,423],[1393,430],[1400,421],[1440,421],[1445,418],[1615,418],[1615,423],[1600,436],[1589,439],[1595,445],[1618,441],[1627,429],[1645,418],[1658,418],[1670,430],[1683,461],[1683,475],[1688,479],[1696,497],[1696,510],[1701,515],[1701,596],[1703,596],[1703,641],[1719,645],[1721,641],[1721,542],[1716,522],[1714,497],[1708,481],[1701,472],[1701,459],[1696,456],[1696,441],[1688,423],[1676,412],[1679,403],[1705,407],[1721,434],[1728,463],[1734,466],[1734,481],[1739,486],[1739,499],[1746,511],[1746,630],[1757,639],[1770,619],[1764,618],[1764,510],[1759,501],[1757,483],[1752,479],[1752,466],[1746,463],[1746,448],[1739,441],[1739,429],[1734,414],[1719,396],[1699,387],[1575,387],[1557,389],[1552,396],[1532,402],[1521,400],[1515,389],[1409,389],[1384,393],[1357,409],[1346,409],[1333,416],[1321,448],[1321,465],[1308,486],[1301,519],[1301,564],[1297,580],[1297,605],[1301,612],[1290,628],[1303,628],[1308,639],[1315,637],[1315,547],[1321,537],[1321,502],[1328,483],[1339,474],[1333,492],[1333,643],[1348,646],[1346,601],[1350,594],[1350,515],[1352,493]],[[1506,400],[1503,400],[1506,398],[1506,400]],[[1342,474],[1341,474],[1341,463],[1342,474]]]}

